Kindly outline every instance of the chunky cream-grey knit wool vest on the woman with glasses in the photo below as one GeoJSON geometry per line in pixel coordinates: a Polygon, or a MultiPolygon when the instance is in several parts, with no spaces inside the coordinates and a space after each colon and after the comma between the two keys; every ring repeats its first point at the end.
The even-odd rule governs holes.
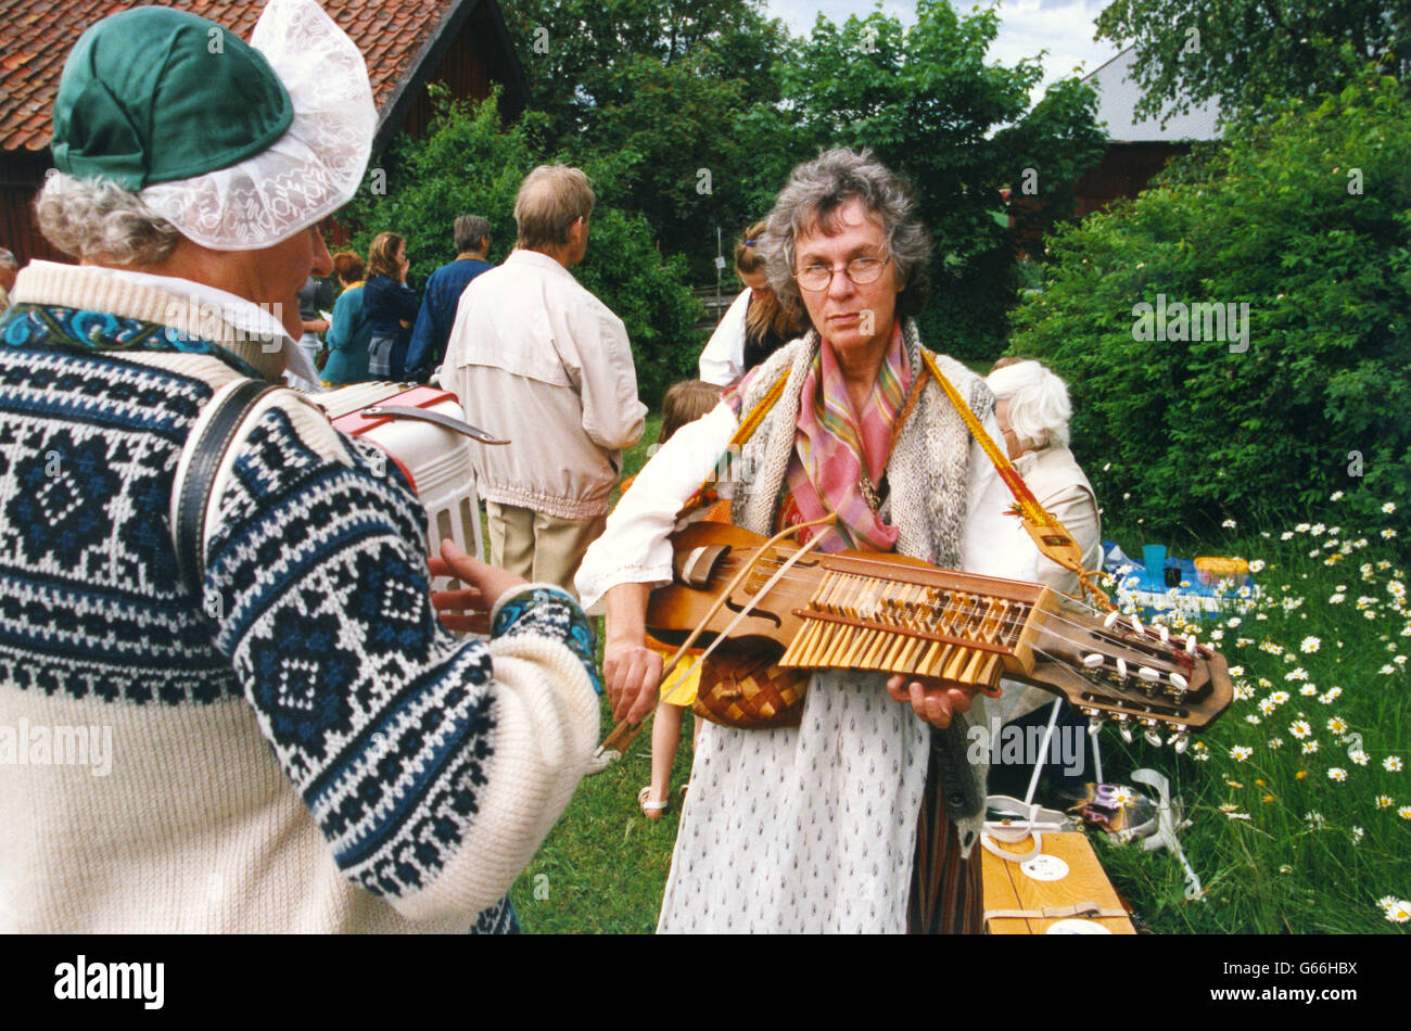
{"type": "MultiPolygon", "coordinates": [[[[921,340],[916,323],[903,323],[912,375],[923,372],[921,340]]],[[[742,416],[769,392],[787,370],[785,392],[763,417],[739,454],[739,477],[732,515],[735,525],[752,533],[773,533],[780,489],[793,457],[799,423],[799,394],[818,354],[814,330],[776,351],[755,374],[744,395],[742,416]]],[[[983,422],[995,408],[995,395],[978,375],[944,354],[937,364],[983,422]]],[[[902,429],[886,467],[888,506],[897,527],[896,550],[934,566],[958,568],[961,533],[969,484],[971,434],[959,413],[934,381],[927,382],[902,429]]]]}

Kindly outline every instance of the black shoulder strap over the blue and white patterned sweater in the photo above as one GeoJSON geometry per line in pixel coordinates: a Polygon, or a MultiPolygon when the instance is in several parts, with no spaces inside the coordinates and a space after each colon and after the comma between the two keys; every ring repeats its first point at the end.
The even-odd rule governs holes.
{"type": "Polygon", "coordinates": [[[176,547],[176,570],[193,598],[200,598],[205,580],[206,509],[216,485],[216,471],[246,416],[264,395],[277,389],[261,379],[246,379],[217,395],[202,413],[195,440],[186,443],[186,454],[172,484],[172,543],[176,547]]]}

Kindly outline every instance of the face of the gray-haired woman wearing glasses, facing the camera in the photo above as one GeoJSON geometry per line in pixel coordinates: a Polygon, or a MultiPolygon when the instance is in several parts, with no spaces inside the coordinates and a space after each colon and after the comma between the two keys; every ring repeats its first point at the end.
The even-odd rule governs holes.
{"type": "Polygon", "coordinates": [[[794,275],[810,265],[832,269],[832,279],[823,289],[803,289],[799,293],[809,309],[809,317],[818,334],[837,351],[865,351],[872,346],[886,347],[896,319],[896,295],[900,285],[896,262],[886,247],[882,219],[858,199],[838,209],[835,236],[813,226],[794,238],[794,275]],[[871,283],[858,285],[844,271],[855,260],[885,262],[882,275],[871,283]]]}

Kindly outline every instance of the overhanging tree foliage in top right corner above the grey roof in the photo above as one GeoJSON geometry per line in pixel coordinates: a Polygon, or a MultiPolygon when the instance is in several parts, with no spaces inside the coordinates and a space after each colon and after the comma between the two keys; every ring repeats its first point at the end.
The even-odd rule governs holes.
{"type": "Polygon", "coordinates": [[[1336,93],[1362,63],[1411,58],[1411,0],[1113,0],[1098,37],[1136,41],[1139,116],[1219,100],[1257,117],[1336,93]]]}

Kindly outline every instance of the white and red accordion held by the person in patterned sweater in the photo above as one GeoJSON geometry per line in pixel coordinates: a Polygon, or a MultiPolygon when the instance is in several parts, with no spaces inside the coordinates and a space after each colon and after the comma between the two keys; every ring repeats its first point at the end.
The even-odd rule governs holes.
{"type": "MultiPolygon", "coordinates": [[[[470,440],[505,441],[466,425],[454,394],[439,386],[371,382],[309,399],[329,413],[337,430],[377,444],[396,463],[426,509],[432,553],[449,537],[461,550],[484,557],[470,440]]],[[[444,582],[435,584],[435,590],[444,588],[444,582]]]]}

